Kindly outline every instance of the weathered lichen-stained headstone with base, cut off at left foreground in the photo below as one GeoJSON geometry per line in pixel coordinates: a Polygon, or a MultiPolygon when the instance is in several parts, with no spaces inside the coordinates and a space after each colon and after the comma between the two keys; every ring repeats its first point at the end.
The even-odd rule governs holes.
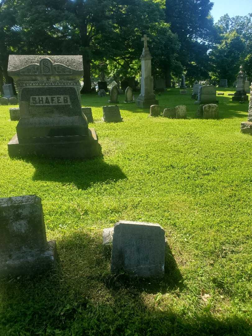
{"type": "Polygon", "coordinates": [[[46,240],[39,197],[0,199],[0,237],[0,277],[30,275],[55,266],[56,242],[46,240]]]}

